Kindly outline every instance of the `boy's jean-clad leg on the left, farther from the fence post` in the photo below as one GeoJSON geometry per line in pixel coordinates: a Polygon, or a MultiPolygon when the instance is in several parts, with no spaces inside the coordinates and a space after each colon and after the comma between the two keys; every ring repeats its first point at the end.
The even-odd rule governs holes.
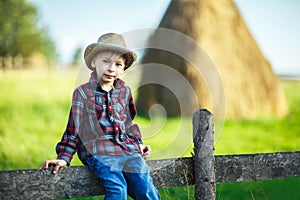
{"type": "MultiPolygon", "coordinates": [[[[91,157],[87,159],[90,169],[97,175],[105,189],[105,199],[127,199],[127,183],[122,170],[112,167],[107,163],[103,164],[99,157],[91,157]]],[[[104,158],[105,160],[105,158],[104,158]]],[[[114,165],[118,163],[118,159],[114,161],[114,165]]]]}

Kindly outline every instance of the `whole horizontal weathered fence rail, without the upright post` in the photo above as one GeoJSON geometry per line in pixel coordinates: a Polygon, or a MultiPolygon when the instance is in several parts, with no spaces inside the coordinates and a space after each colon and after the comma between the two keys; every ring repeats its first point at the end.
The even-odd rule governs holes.
{"type": "MultiPolygon", "coordinates": [[[[194,185],[193,158],[147,161],[158,188],[194,185]]],[[[216,182],[300,176],[300,151],[215,156],[216,182]]],[[[0,199],[58,199],[104,194],[87,167],[0,171],[0,199]]]]}

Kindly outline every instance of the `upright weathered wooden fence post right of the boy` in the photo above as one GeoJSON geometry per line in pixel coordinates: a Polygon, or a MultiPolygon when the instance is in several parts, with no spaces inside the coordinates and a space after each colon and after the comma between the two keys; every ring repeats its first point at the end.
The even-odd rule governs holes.
{"type": "Polygon", "coordinates": [[[195,199],[216,199],[213,116],[201,109],[193,115],[195,199]]]}

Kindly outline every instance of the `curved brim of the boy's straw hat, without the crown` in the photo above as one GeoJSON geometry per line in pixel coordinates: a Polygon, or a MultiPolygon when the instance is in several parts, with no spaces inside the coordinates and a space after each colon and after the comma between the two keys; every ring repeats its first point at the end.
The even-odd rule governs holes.
{"type": "Polygon", "coordinates": [[[117,46],[117,45],[111,45],[111,44],[99,44],[99,43],[93,43],[90,44],[84,52],[84,60],[85,64],[90,70],[94,70],[94,68],[91,66],[91,62],[93,58],[100,53],[101,51],[116,51],[121,53],[126,57],[126,62],[125,62],[125,70],[129,68],[132,63],[136,60],[137,55],[136,53],[130,51],[129,49],[117,46]]]}

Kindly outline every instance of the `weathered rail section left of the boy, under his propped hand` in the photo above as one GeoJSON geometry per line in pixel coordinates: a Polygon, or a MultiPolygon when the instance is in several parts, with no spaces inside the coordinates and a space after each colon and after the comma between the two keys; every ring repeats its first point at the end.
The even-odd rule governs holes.
{"type": "Polygon", "coordinates": [[[87,167],[67,167],[53,175],[51,170],[0,172],[1,199],[58,199],[103,193],[87,167]]]}

